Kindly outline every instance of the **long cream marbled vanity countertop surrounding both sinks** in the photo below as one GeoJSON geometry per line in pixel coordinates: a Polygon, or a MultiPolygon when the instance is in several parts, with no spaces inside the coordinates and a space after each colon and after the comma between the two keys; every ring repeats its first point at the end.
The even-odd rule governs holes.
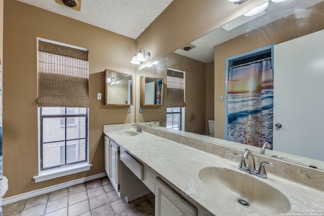
{"type": "MultiPolygon", "coordinates": [[[[135,132],[136,129],[126,128],[113,131],[104,129],[104,134],[156,171],[187,200],[205,209],[210,215],[269,215],[269,212],[264,212],[264,214],[257,212],[267,203],[261,203],[261,208],[260,206],[253,207],[253,203],[247,207],[237,202],[237,198],[235,198],[237,195],[234,193],[228,193],[225,196],[201,182],[198,177],[199,170],[210,166],[233,169],[273,186],[289,199],[291,205],[289,213],[307,213],[306,211],[309,210],[318,210],[319,212],[316,213],[319,214],[317,215],[324,215],[323,191],[279,178],[269,172],[267,179],[247,174],[247,172],[238,169],[237,162],[147,132],[133,137],[118,135],[119,132],[124,131],[135,132]]],[[[256,166],[258,167],[258,164],[256,166]]],[[[267,193],[266,195],[268,195],[267,193]]],[[[275,207],[270,207],[270,209],[273,210],[275,207]]],[[[287,212],[276,212],[275,214],[280,215],[280,213],[289,215],[284,214],[287,212]]]]}

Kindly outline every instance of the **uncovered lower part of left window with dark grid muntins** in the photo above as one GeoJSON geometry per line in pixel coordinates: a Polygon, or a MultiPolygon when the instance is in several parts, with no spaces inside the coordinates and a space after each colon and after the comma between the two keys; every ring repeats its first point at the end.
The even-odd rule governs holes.
{"type": "Polygon", "coordinates": [[[41,107],[39,112],[41,170],[87,161],[88,109],[41,107]]]}

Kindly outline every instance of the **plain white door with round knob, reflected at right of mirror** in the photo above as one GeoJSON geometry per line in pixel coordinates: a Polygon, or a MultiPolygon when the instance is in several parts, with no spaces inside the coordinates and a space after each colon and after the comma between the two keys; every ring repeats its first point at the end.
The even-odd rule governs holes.
{"type": "Polygon", "coordinates": [[[274,46],[273,149],[324,160],[324,30],[274,46]]]}

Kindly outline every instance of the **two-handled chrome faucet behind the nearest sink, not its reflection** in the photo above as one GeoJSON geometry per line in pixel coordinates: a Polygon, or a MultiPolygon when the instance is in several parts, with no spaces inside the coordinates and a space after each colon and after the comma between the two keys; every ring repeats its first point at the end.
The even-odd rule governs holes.
{"type": "MultiPolygon", "coordinates": [[[[239,155],[234,153],[235,155],[239,155]]],[[[270,162],[261,162],[258,170],[255,169],[254,157],[251,150],[246,150],[241,156],[241,161],[239,163],[238,169],[249,172],[250,174],[256,175],[261,178],[267,178],[267,173],[264,168],[264,164],[268,164],[270,166],[275,166],[270,162]],[[246,159],[248,159],[248,166],[246,164],[246,159]]]]}

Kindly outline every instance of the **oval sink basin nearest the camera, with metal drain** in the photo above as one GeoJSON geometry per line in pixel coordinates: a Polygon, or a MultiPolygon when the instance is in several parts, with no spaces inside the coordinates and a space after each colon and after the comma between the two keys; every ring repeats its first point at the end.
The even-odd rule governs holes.
{"type": "Polygon", "coordinates": [[[224,200],[228,199],[233,208],[242,205],[257,214],[268,215],[280,215],[291,208],[284,194],[251,174],[212,166],[200,169],[198,176],[205,185],[221,195],[224,200]],[[243,201],[239,202],[240,199],[243,201]]]}

